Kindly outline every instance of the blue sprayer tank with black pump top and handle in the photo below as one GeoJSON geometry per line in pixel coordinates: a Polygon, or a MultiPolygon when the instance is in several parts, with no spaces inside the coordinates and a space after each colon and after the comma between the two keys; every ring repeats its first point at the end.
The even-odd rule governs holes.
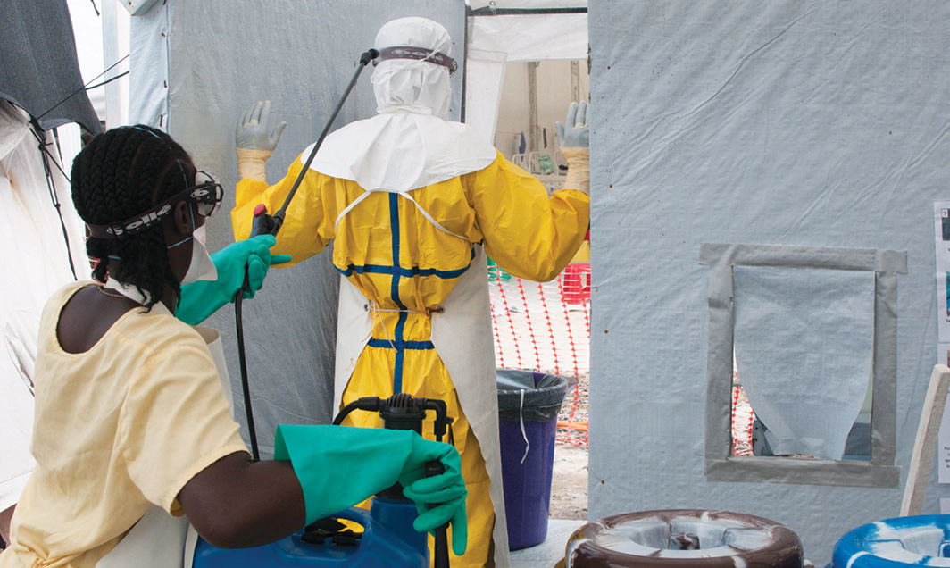
{"type": "MultiPolygon", "coordinates": [[[[435,438],[441,442],[451,418],[446,403],[440,400],[413,398],[396,394],[388,399],[364,397],[344,407],[333,420],[339,425],[353,410],[379,412],[383,426],[390,429],[412,429],[422,434],[422,423],[428,410],[434,410],[435,438]]],[[[449,436],[449,439],[451,436],[449,436]]],[[[427,475],[443,472],[440,462],[426,464],[427,475]]],[[[195,547],[195,568],[428,568],[428,538],[412,528],[418,511],[414,502],[403,496],[402,485],[396,483],[373,497],[370,510],[352,507],[327,519],[321,519],[304,530],[254,548],[221,549],[198,541],[195,547]],[[363,526],[354,533],[338,520],[353,521],[363,526]]],[[[448,567],[447,525],[436,530],[435,566],[448,567]]]]}

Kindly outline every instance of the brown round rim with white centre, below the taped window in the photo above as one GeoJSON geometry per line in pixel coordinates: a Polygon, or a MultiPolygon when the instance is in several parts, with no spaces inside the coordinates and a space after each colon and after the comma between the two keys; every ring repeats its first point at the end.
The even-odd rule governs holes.
{"type": "Polygon", "coordinates": [[[642,511],[583,525],[566,568],[801,568],[802,541],[768,519],[697,509],[642,511]]]}

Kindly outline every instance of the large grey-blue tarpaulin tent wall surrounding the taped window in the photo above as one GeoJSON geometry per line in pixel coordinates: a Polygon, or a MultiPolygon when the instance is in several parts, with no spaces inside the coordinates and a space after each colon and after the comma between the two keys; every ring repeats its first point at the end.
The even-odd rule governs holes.
{"type": "MultiPolygon", "coordinates": [[[[589,9],[589,516],[761,515],[787,524],[824,565],[845,531],[898,515],[937,362],[933,203],[950,199],[950,5],[591,0],[589,9]],[[830,337],[835,359],[852,338],[833,320],[857,314],[861,333],[874,326],[862,364],[875,375],[871,462],[728,457],[731,327],[769,299],[748,286],[766,267],[821,273],[838,297],[801,314],[816,317],[794,322],[804,321],[800,340],[751,374],[855,387],[860,372],[814,374],[783,351],[830,337]],[[856,275],[867,285],[851,289],[856,275]],[[842,310],[838,300],[855,298],[842,310]]],[[[783,286],[772,284],[771,299],[809,299],[807,284],[775,293],[783,286]]],[[[764,308],[751,315],[765,316],[763,338],[791,325],[764,308]]],[[[736,328],[737,357],[766,344],[740,346],[743,336],[736,328]]],[[[932,476],[924,513],[947,495],[932,476]]]]}

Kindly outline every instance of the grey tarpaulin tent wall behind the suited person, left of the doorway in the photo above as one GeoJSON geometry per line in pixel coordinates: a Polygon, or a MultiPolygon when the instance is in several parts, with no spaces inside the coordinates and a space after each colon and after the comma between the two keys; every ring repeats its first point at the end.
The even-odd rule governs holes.
{"type": "MultiPolygon", "coordinates": [[[[288,123],[268,161],[268,181],[274,183],[316,140],[376,30],[390,19],[415,15],[444,25],[461,58],[461,0],[168,0],[132,18],[129,122],[165,129],[227,188],[221,212],[209,222],[209,249],[233,240],[227,212],[234,205],[234,131],[241,114],[255,101],[269,99],[274,124],[288,123]]],[[[361,76],[334,129],[375,114],[370,74],[368,69],[361,76]]],[[[460,116],[461,75],[453,82],[453,120],[460,116]]],[[[329,256],[317,256],[272,271],[261,293],[244,302],[262,455],[273,451],[277,424],[332,419],[338,277],[329,256]]],[[[233,310],[218,312],[208,325],[221,331],[240,408],[233,310]]]]}

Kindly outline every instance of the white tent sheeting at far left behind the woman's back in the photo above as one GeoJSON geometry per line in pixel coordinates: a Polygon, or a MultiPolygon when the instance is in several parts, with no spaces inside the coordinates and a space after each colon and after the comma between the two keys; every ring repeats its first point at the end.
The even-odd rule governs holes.
{"type": "MultiPolygon", "coordinates": [[[[52,156],[57,149],[47,133],[52,156]]],[[[69,184],[55,165],[59,196],[72,258],[78,275],[88,272],[85,227],[69,199],[69,184]]],[[[65,168],[64,168],[65,169],[65,168]]],[[[0,101],[0,265],[7,270],[0,294],[0,510],[19,499],[33,468],[29,439],[33,398],[28,387],[40,312],[49,294],[72,280],[66,242],[49,199],[39,143],[24,113],[0,101]]]]}

